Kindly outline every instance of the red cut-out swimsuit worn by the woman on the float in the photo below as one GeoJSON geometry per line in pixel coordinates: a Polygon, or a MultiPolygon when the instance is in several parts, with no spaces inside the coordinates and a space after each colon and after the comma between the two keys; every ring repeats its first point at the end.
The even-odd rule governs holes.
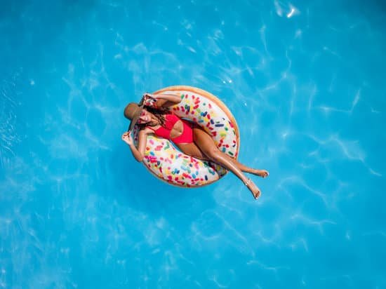
{"type": "Polygon", "coordinates": [[[185,121],[185,119],[180,119],[175,114],[166,114],[165,119],[166,121],[164,123],[164,126],[160,126],[159,128],[157,128],[157,130],[154,130],[154,128],[150,126],[148,126],[148,128],[153,130],[155,135],[159,137],[167,138],[168,140],[171,140],[175,144],[193,142],[192,123],[189,123],[189,121],[185,121]],[[171,130],[177,121],[182,121],[182,124],[184,125],[184,130],[182,130],[181,135],[179,135],[178,137],[172,138],[171,130]]]}

